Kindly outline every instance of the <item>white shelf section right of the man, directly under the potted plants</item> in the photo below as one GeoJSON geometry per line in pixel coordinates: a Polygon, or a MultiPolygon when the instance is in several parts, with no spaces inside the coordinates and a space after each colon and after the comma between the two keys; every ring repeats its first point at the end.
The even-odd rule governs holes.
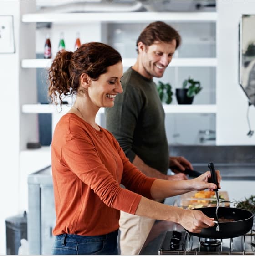
{"type": "Polygon", "coordinates": [[[215,114],[217,112],[216,105],[163,105],[165,113],[207,113],[215,114]]]}

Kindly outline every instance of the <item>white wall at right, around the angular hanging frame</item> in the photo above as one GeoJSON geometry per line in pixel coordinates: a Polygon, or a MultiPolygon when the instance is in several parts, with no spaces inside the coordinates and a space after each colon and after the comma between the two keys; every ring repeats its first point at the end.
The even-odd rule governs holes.
{"type": "MultiPolygon", "coordinates": [[[[238,25],[242,14],[255,13],[255,1],[217,1],[217,145],[255,145],[249,138],[247,98],[238,84],[238,25]]],[[[255,129],[255,107],[250,106],[250,124],[255,129]]]]}

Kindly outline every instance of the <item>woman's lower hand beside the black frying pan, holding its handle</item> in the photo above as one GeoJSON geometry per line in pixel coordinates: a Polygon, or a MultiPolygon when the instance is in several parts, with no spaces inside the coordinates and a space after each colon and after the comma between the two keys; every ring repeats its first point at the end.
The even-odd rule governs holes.
{"type": "Polygon", "coordinates": [[[179,224],[189,232],[200,233],[203,228],[214,226],[213,220],[199,210],[183,210],[179,224]]]}

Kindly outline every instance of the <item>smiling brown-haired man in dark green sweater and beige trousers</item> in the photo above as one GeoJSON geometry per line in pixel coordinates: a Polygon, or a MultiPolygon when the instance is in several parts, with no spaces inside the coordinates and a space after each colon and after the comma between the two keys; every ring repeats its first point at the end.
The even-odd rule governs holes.
{"type": "MultiPolygon", "coordinates": [[[[162,77],[181,41],[164,22],[149,24],[137,40],[138,57],[122,77],[123,93],[106,109],[106,127],[117,138],[130,161],[149,177],[187,179],[181,171],[193,169],[184,157],[169,157],[165,113],[153,77],[162,77]],[[178,172],[167,175],[168,168],[178,172]]],[[[121,212],[120,249],[138,254],[154,220],[121,212]]]]}

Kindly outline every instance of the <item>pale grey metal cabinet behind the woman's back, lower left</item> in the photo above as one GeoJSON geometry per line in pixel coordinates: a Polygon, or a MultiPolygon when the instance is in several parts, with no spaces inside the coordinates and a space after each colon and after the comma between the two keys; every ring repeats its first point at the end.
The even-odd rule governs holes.
{"type": "Polygon", "coordinates": [[[50,255],[56,214],[51,166],[28,176],[27,231],[30,255],[50,255]]]}

